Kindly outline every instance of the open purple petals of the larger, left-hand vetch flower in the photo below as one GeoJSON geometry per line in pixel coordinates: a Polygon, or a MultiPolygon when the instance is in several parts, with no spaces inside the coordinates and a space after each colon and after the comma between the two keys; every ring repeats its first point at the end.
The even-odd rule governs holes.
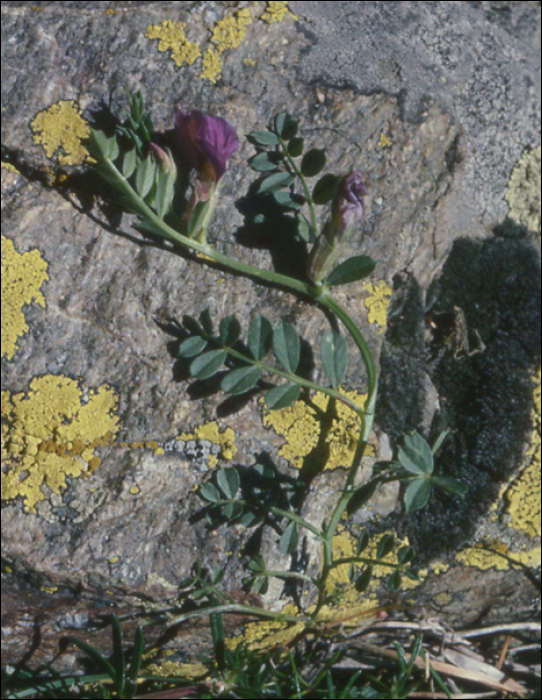
{"type": "Polygon", "coordinates": [[[203,180],[218,182],[226,162],[239,147],[239,138],[222,117],[203,114],[197,109],[175,115],[175,138],[183,158],[202,174],[203,180]]]}

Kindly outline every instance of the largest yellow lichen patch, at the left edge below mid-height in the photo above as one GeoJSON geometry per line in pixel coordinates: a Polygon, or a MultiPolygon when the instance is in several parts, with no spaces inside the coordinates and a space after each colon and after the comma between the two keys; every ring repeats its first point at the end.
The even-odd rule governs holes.
{"type": "Polygon", "coordinates": [[[2,392],[2,499],[22,497],[27,512],[68,476],[99,466],[94,451],[118,431],[117,397],[106,385],[87,391],[68,377],[35,377],[30,391],[2,392]],[[45,491],[44,491],[45,487],[45,491]]]}

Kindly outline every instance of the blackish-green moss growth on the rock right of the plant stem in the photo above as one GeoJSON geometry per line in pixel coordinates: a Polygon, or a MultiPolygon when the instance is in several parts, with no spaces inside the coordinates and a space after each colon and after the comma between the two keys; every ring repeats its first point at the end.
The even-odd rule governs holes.
{"type": "MultiPolygon", "coordinates": [[[[437,454],[436,473],[460,479],[469,492],[463,500],[433,492],[422,511],[399,516],[396,526],[423,556],[467,542],[499,485],[519,464],[531,428],[531,376],[540,363],[540,281],[540,256],[528,241],[461,239],[428,290],[429,350],[424,369],[440,401],[432,431],[450,430],[437,454]],[[458,313],[454,309],[462,311],[468,329],[469,342],[463,350],[445,333],[438,333],[442,319],[458,313]]],[[[408,349],[409,334],[416,338],[419,334],[408,316],[405,322],[403,347],[408,349]]],[[[394,338],[401,338],[397,329],[386,340],[394,338]]],[[[419,395],[420,356],[414,339],[411,346],[416,351],[408,379],[403,379],[407,364],[403,357],[397,367],[389,359],[383,364],[383,373],[396,379],[395,384],[385,380],[394,386],[394,395],[385,394],[379,421],[383,427],[392,426],[394,436],[400,425],[420,429],[419,408],[413,408],[413,398],[407,396],[411,391],[419,395]],[[413,425],[415,421],[418,425],[413,425]]]]}

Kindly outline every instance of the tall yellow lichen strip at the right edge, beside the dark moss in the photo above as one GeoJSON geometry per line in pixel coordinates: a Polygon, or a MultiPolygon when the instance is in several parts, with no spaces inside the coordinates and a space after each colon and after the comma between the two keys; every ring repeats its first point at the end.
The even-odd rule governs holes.
{"type": "Polygon", "coordinates": [[[510,526],[530,537],[540,537],[541,415],[540,367],[534,377],[533,432],[519,478],[504,491],[510,526]]]}

